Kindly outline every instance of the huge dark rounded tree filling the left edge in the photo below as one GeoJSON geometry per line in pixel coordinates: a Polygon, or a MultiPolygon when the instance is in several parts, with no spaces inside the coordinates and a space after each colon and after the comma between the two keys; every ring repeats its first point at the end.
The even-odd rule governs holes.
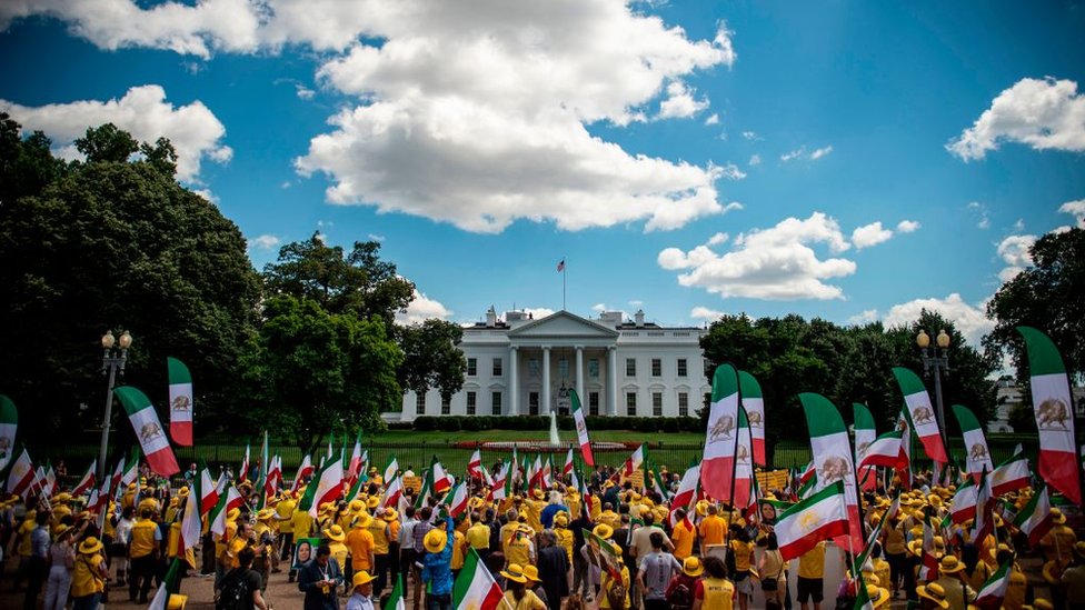
{"type": "MultiPolygon", "coordinates": [[[[240,394],[238,361],[260,293],[245,239],[161,162],[121,157],[131,136],[103,127],[87,140],[93,154],[62,171],[41,159],[29,168],[18,158],[0,161],[23,167],[23,183],[52,176],[37,192],[6,200],[0,214],[0,336],[8,346],[0,388],[26,417],[20,437],[74,439],[100,426],[98,339],[121,328],[136,338],[125,382],[161,406],[166,357],[180,358],[192,371],[198,426],[217,427],[240,394]]],[[[3,154],[40,157],[42,146],[31,137],[3,154]]],[[[169,157],[168,141],[156,148],[169,157]]],[[[122,423],[113,412],[115,426],[122,423]]],[[[115,447],[127,441],[135,439],[115,447]]]]}

